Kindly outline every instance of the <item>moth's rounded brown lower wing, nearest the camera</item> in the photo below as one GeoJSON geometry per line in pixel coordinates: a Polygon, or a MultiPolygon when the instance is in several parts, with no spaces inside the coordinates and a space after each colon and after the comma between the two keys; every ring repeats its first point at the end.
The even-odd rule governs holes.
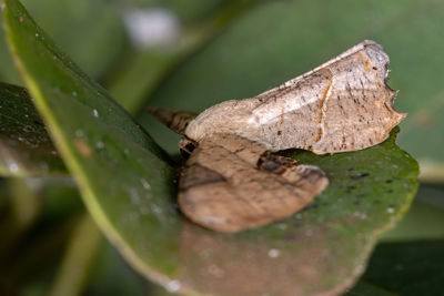
{"type": "Polygon", "coordinates": [[[236,135],[215,134],[201,141],[186,162],[178,198],[193,222],[231,233],[294,214],[326,184],[315,166],[296,165],[236,135]]]}

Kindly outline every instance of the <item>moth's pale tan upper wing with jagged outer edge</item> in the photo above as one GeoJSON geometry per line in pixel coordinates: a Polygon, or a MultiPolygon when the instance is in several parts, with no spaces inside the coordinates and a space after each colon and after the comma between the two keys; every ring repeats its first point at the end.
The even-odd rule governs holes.
{"type": "Polygon", "coordinates": [[[376,42],[361,42],[255,98],[205,110],[185,134],[199,142],[232,133],[272,151],[297,147],[317,154],[379,144],[405,118],[393,108],[396,92],[386,84],[389,62],[376,42]]]}

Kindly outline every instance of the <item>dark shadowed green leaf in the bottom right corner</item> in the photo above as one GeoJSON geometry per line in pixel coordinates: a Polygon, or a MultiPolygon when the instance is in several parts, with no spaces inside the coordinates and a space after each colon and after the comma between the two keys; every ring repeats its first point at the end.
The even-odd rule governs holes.
{"type": "MultiPolygon", "coordinates": [[[[360,283],[369,283],[390,295],[441,295],[443,248],[444,241],[381,244],[360,283]]],[[[349,295],[363,295],[355,290],[349,295]]]]}

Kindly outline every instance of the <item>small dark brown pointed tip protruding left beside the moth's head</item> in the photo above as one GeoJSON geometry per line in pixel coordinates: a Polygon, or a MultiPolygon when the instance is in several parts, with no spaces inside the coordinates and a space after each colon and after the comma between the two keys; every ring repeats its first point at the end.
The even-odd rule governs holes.
{"type": "Polygon", "coordinates": [[[173,132],[181,135],[184,135],[188,124],[196,116],[196,114],[192,112],[174,111],[155,106],[148,108],[147,112],[173,132]]]}

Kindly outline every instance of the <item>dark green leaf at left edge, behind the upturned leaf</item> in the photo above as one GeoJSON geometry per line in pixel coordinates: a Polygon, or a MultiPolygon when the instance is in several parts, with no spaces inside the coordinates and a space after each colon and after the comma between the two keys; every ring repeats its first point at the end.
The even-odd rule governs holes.
{"type": "Polygon", "coordinates": [[[0,82],[0,175],[65,173],[27,90],[0,82]]]}

